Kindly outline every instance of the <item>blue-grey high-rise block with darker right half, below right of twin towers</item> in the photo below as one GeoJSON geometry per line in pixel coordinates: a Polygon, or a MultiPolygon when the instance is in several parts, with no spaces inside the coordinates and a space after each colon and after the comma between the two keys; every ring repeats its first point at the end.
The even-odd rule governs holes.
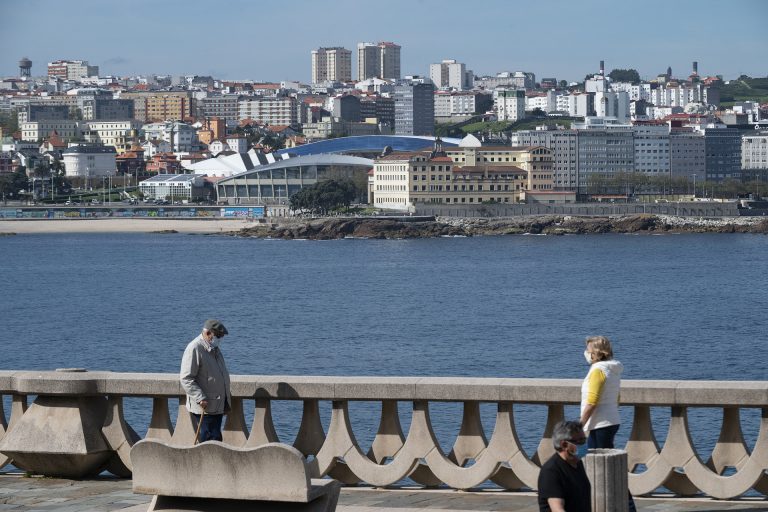
{"type": "Polygon", "coordinates": [[[429,80],[411,79],[395,87],[395,134],[432,135],[435,132],[435,87],[429,80]]]}

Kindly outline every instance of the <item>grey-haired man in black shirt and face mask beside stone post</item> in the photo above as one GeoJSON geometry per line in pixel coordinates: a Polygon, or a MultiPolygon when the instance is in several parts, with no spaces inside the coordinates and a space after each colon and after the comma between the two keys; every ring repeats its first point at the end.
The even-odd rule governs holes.
{"type": "Polygon", "coordinates": [[[540,512],[591,512],[591,486],[581,457],[587,437],[578,421],[561,421],[552,431],[556,453],[539,473],[540,512]]]}

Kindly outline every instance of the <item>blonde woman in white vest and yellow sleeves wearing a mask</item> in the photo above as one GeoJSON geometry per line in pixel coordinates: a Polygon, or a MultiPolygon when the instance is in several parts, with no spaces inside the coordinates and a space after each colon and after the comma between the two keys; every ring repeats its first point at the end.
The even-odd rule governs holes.
{"type": "Polygon", "coordinates": [[[619,430],[619,387],[624,365],[613,358],[605,336],[587,338],[584,357],[590,364],[581,384],[581,423],[588,433],[588,448],[613,448],[619,430]]]}

